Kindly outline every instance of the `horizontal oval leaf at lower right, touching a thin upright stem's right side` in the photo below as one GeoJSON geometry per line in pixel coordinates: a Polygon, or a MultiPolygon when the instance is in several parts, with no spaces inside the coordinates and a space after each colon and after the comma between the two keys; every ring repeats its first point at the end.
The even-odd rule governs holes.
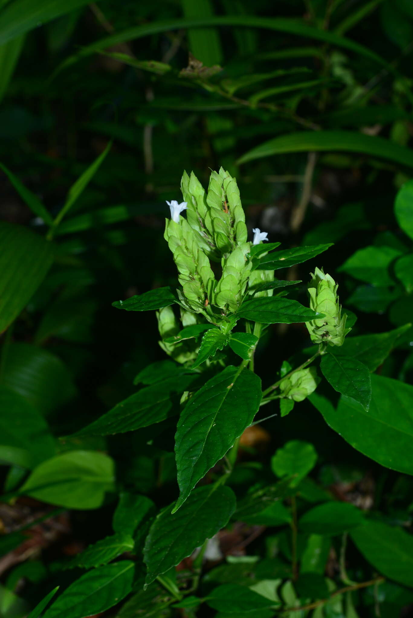
{"type": "Polygon", "coordinates": [[[330,500],[308,510],[298,522],[300,530],[317,535],[339,535],[363,523],[363,513],[349,502],[330,500]]]}

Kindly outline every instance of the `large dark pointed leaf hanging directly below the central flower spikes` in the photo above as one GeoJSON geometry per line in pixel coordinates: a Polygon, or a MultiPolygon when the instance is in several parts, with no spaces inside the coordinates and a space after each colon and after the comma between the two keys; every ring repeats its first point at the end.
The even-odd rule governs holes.
{"type": "Polygon", "coordinates": [[[209,379],[189,400],[175,435],[180,497],[174,510],[251,425],[260,402],[261,380],[233,366],[209,379]]]}

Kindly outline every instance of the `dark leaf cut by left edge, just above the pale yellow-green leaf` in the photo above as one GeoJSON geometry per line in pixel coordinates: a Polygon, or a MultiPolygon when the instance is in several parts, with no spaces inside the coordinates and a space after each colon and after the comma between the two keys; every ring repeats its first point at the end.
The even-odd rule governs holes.
{"type": "Polygon", "coordinates": [[[0,461],[34,468],[56,452],[40,412],[19,394],[0,386],[0,461]]]}

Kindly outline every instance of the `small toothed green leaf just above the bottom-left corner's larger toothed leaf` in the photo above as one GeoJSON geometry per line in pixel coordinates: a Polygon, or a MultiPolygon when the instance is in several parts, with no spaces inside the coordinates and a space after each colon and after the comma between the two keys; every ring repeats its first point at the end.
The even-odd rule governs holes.
{"type": "Polygon", "coordinates": [[[132,551],[133,548],[134,540],[131,535],[125,531],[118,532],[89,545],[85,551],[74,557],[69,566],[71,568],[81,567],[82,569],[100,567],[102,564],[108,564],[125,551],[132,551]]]}

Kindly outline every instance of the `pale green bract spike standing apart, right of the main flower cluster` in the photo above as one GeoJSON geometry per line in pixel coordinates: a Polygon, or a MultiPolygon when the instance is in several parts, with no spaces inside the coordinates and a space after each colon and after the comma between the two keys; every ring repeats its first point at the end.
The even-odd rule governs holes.
{"type": "Polygon", "coordinates": [[[338,284],[329,274],[324,274],[322,268],[321,270],[316,268],[311,276],[313,278],[308,288],[310,308],[325,316],[305,323],[311,341],[315,344],[342,345],[344,337],[351,329],[346,329],[346,313],[341,315],[341,305],[337,296],[338,284]]]}

